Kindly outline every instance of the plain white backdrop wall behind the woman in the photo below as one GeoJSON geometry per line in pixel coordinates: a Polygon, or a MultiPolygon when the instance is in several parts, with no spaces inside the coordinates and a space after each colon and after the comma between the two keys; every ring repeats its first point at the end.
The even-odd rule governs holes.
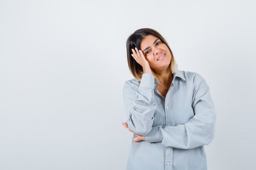
{"type": "Polygon", "coordinates": [[[0,0],[0,170],[124,170],[126,40],[161,33],[217,110],[209,170],[256,169],[255,0],[0,0]]]}

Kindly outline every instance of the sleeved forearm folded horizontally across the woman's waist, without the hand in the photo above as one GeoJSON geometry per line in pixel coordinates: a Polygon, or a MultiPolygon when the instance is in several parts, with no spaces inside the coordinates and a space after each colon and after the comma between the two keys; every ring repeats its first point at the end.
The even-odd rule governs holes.
{"type": "Polygon", "coordinates": [[[214,138],[215,113],[208,117],[208,121],[199,119],[194,117],[186,124],[177,126],[155,126],[145,139],[148,142],[162,142],[164,146],[180,149],[208,145],[214,138]]]}

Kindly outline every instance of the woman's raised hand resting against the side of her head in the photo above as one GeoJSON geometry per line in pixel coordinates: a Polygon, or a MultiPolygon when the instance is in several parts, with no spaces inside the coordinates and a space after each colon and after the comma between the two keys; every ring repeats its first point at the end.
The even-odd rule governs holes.
{"type": "Polygon", "coordinates": [[[148,73],[148,74],[152,74],[151,68],[148,64],[148,61],[146,60],[146,58],[144,57],[143,53],[141,50],[138,50],[135,47],[135,50],[132,49],[132,57],[134,58],[134,60],[139,63],[142,68],[143,68],[143,73],[148,73]]]}

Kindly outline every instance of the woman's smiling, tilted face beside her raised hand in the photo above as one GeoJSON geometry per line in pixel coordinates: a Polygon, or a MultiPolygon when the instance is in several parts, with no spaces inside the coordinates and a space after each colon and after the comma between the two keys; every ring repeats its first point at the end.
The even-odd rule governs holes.
{"type": "Polygon", "coordinates": [[[171,52],[168,47],[153,35],[147,35],[141,40],[140,49],[149,66],[156,72],[164,71],[171,62],[171,52]]]}

